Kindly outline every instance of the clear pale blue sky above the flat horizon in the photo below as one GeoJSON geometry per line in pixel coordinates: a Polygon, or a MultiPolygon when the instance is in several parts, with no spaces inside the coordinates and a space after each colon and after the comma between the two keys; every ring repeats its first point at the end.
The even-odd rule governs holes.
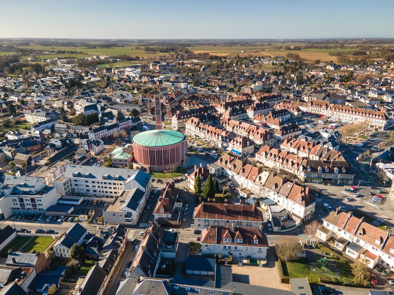
{"type": "Polygon", "coordinates": [[[0,38],[394,37],[394,0],[0,0],[0,38]]]}

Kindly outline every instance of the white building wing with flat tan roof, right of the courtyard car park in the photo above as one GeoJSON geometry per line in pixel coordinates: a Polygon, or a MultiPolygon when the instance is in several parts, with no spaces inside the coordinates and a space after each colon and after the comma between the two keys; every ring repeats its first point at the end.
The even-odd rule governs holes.
{"type": "MultiPolygon", "coordinates": [[[[126,169],[119,169],[126,170],[126,169]]],[[[104,221],[110,224],[137,224],[152,191],[152,177],[136,171],[124,184],[124,189],[111,205],[102,212],[104,221]]]]}

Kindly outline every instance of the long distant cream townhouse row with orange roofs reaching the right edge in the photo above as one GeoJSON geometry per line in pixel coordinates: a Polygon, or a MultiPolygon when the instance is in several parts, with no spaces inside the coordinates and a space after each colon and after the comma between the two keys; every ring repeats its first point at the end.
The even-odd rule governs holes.
{"type": "Polygon", "coordinates": [[[370,127],[381,130],[388,129],[394,125],[393,118],[389,118],[383,111],[330,104],[325,100],[310,100],[307,103],[297,102],[297,104],[303,112],[321,114],[333,121],[343,123],[366,121],[370,127]]]}

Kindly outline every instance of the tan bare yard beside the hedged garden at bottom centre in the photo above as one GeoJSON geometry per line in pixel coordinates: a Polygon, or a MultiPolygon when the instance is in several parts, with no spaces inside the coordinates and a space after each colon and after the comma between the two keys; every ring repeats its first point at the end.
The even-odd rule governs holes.
{"type": "Polygon", "coordinates": [[[273,248],[268,248],[267,264],[265,267],[258,266],[231,266],[232,279],[234,282],[290,290],[288,284],[281,283],[279,279],[278,262],[273,248]]]}

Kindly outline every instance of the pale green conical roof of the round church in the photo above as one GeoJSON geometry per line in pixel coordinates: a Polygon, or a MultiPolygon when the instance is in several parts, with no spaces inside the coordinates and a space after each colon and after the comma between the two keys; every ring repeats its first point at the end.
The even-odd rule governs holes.
{"type": "Polygon", "coordinates": [[[186,137],[175,130],[148,130],[134,135],[133,143],[145,147],[165,147],[177,144],[186,137]]]}

